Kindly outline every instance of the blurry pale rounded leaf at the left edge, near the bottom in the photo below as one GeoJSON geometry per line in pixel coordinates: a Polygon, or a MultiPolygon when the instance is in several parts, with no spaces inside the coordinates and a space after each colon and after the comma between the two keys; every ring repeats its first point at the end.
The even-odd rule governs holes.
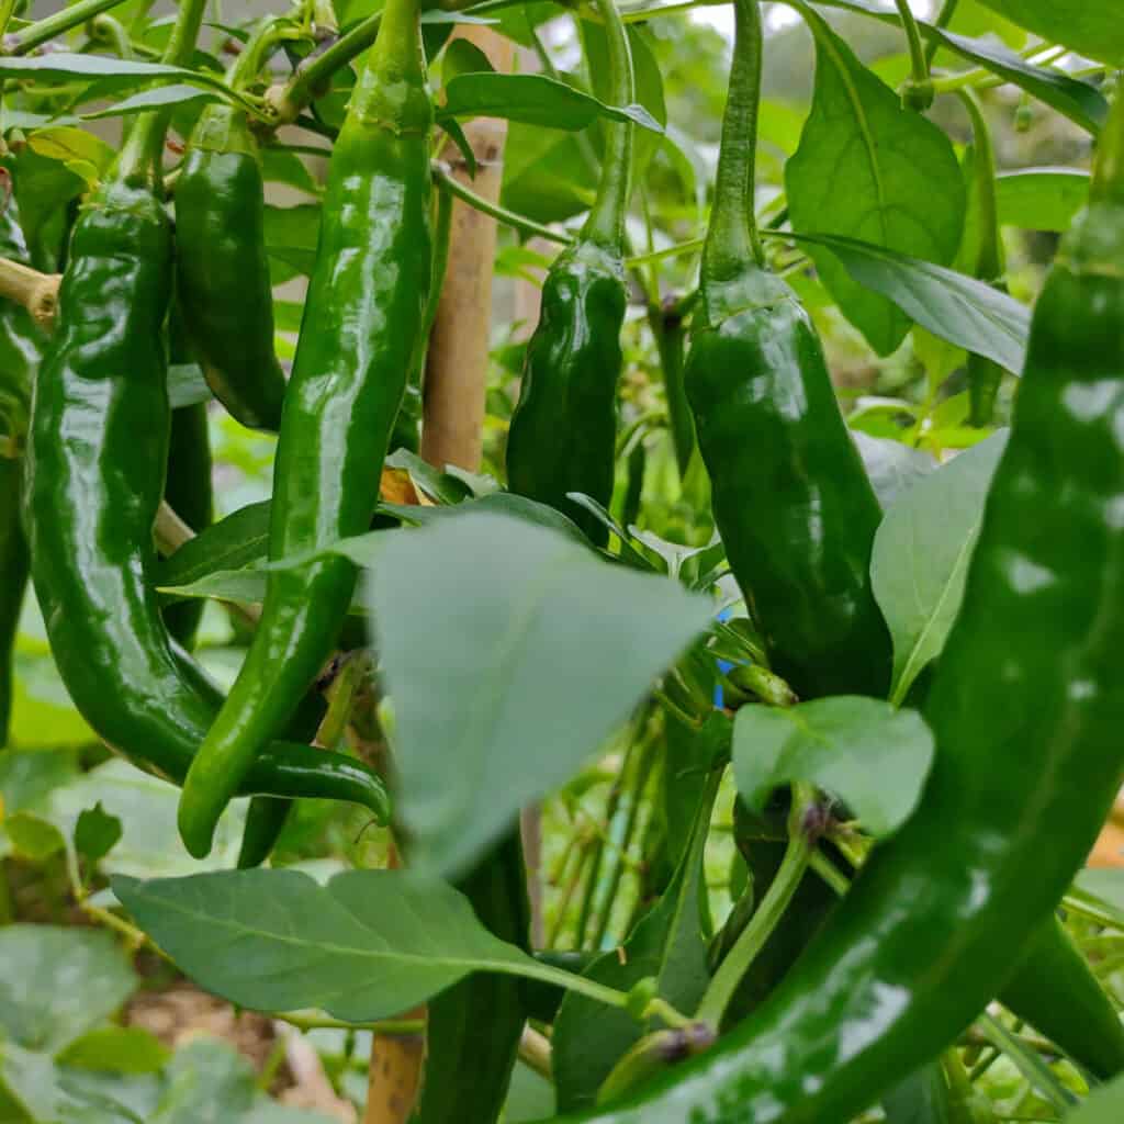
{"type": "Polygon", "coordinates": [[[137,979],[107,930],[55,925],[0,928],[0,1030],[53,1054],[112,1015],[137,979]]]}

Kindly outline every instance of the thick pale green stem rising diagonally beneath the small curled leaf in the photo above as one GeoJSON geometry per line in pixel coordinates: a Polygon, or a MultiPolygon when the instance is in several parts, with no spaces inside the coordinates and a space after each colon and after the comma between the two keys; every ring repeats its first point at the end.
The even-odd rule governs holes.
{"type": "Polygon", "coordinates": [[[723,1015],[731,999],[737,990],[738,985],[749,971],[750,966],[756,959],[758,953],[765,946],[765,942],[772,935],[777,923],[781,919],[785,910],[788,909],[792,895],[796,894],[812,856],[815,853],[816,844],[808,835],[804,819],[805,815],[815,803],[815,790],[808,785],[792,786],[792,809],[788,821],[788,847],[785,858],[781,860],[777,877],[772,880],[769,891],[761,900],[749,925],[742,931],[734,948],[722,962],[722,967],[710,980],[710,985],[699,1004],[698,1019],[709,1023],[711,1026],[722,1025],[723,1015]]]}

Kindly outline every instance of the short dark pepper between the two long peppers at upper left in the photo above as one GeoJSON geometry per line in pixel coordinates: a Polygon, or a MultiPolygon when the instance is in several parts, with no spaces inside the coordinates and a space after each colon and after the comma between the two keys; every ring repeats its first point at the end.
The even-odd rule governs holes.
{"type": "Polygon", "coordinates": [[[273,345],[264,209],[245,112],[209,106],[175,185],[179,303],[215,397],[243,425],[275,430],[285,382],[273,345]]]}

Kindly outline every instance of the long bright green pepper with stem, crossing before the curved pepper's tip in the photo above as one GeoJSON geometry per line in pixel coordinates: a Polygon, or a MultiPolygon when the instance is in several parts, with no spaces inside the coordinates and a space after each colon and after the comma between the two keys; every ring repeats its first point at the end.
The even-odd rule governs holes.
{"type": "MultiPolygon", "coordinates": [[[[378,504],[430,280],[432,121],[417,0],[389,0],[332,154],[281,419],[273,560],[362,533],[378,504]]],[[[246,661],[180,799],[192,854],[210,850],[223,808],[328,659],[354,586],[354,565],[335,555],[270,573],[246,661]]]]}

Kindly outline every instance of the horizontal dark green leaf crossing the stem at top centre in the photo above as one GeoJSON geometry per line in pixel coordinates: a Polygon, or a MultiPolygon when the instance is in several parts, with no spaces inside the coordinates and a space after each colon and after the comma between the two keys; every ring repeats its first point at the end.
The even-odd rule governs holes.
{"type": "Polygon", "coordinates": [[[460,74],[446,84],[445,96],[445,105],[437,109],[438,121],[447,117],[501,117],[578,132],[605,117],[663,133],[643,106],[607,106],[545,74],[460,74]]]}

